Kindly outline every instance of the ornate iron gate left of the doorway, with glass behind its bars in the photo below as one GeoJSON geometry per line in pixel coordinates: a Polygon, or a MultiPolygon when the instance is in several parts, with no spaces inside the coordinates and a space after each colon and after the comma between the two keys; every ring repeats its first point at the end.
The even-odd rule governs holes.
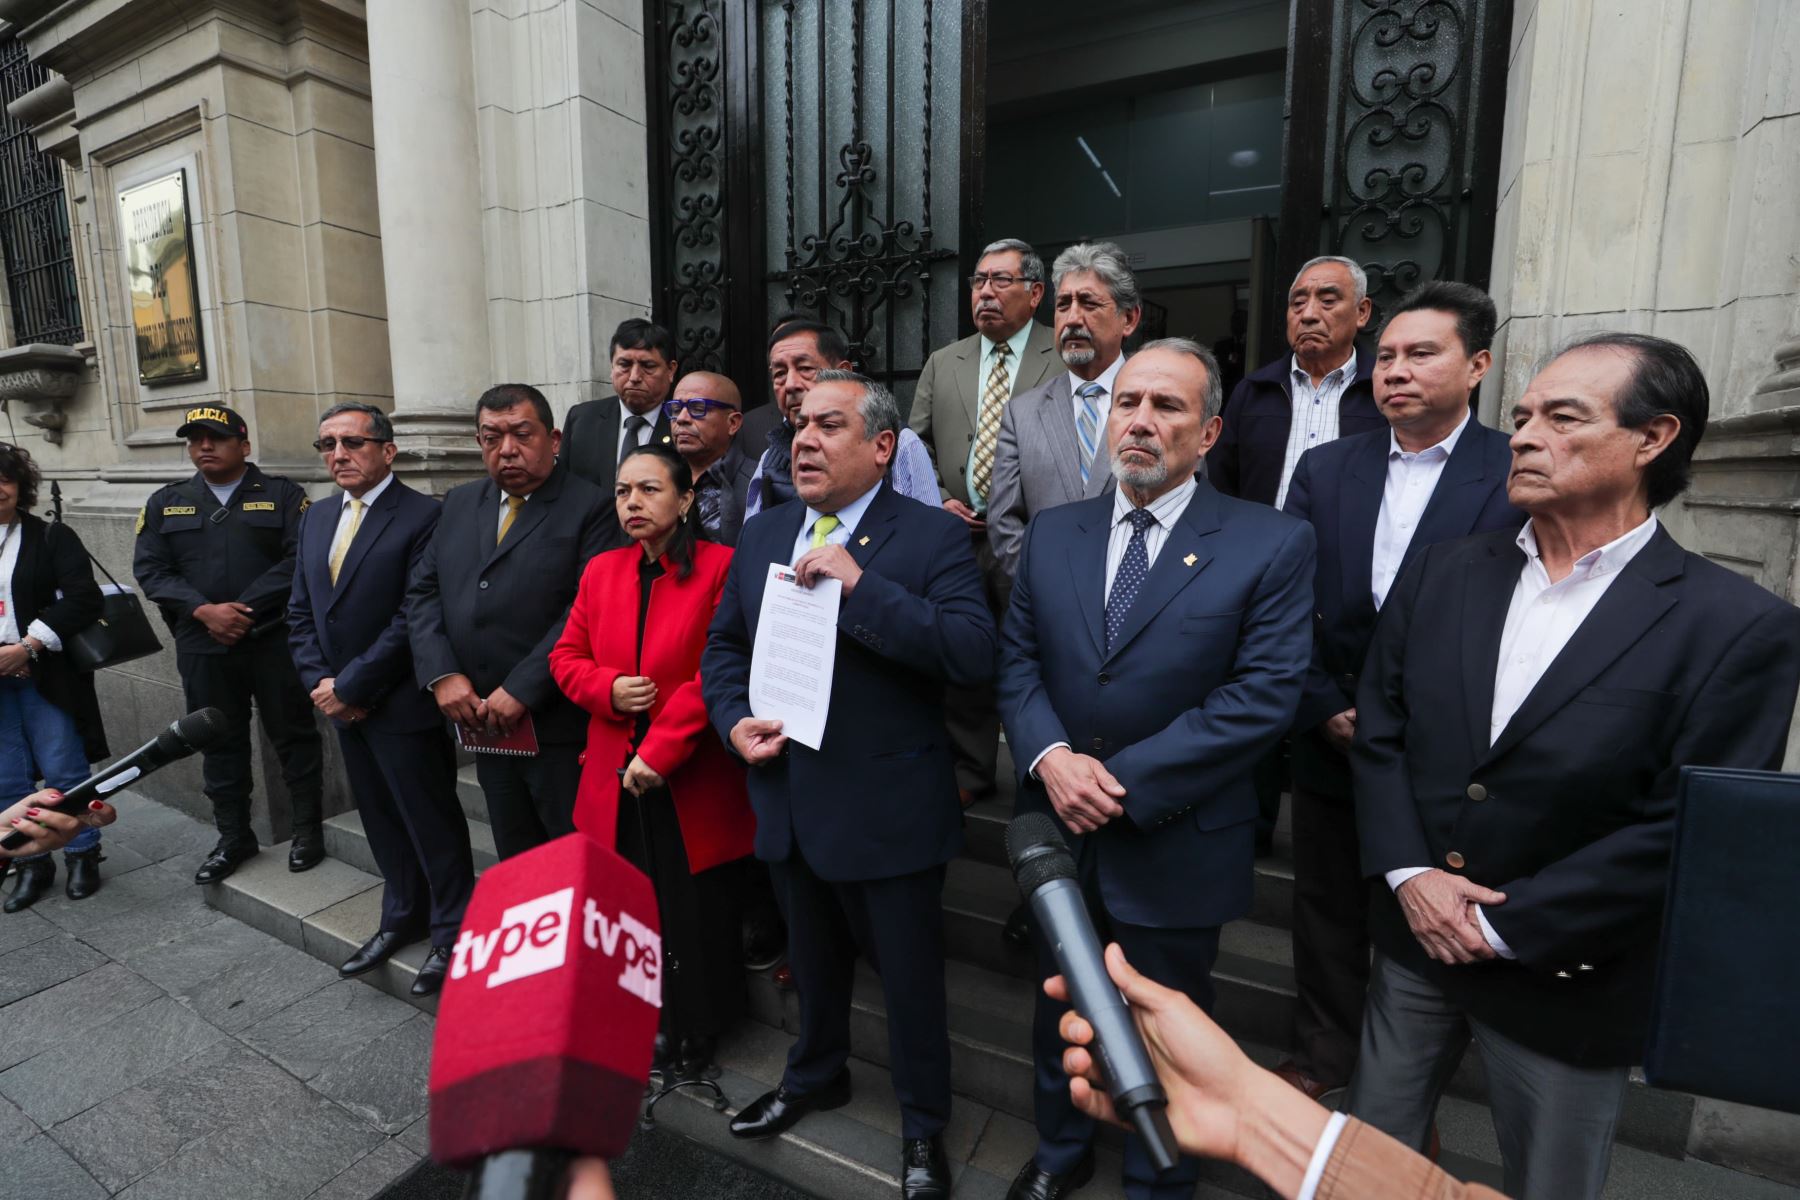
{"type": "MultiPolygon", "coordinates": [[[[902,403],[958,336],[974,0],[648,0],[657,317],[761,396],[774,317],[824,320],[902,403]]],[[[979,86],[979,85],[977,85],[979,86]]],[[[979,97],[974,97],[979,104],[979,97]]]]}

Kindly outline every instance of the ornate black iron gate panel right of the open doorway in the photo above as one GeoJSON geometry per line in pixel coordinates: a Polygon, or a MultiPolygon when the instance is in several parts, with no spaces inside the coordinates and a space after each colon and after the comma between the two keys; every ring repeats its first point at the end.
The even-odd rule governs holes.
{"type": "Polygon", "coordinates": [[[1510,25],[1507,0],[1294,0],[1283,290],[1316,254],[1364,264],[1375,320],[1427,279],[1487,286],[1510,25]]]}

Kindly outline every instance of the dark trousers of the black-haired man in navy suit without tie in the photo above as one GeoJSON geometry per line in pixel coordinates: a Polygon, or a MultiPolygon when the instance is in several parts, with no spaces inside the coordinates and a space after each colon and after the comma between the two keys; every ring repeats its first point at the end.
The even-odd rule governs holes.
{"type": "Polygon", "coordinates": [[[1368,995],[1368,889],[1355,801],[1296,786],[1294,797],[1294,1063],[1323,1083],[1348,1083],[1368,995]]]}

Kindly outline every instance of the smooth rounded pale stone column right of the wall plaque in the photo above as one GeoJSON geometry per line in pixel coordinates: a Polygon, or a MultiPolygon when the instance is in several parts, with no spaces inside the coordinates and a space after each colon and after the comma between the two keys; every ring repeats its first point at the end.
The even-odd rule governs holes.
{"type": "Polygon", "coordinates": [[[493,383],[468,5],[371,4],[369,92],[400,468],[443,491],[481,471],[493,383]]]}

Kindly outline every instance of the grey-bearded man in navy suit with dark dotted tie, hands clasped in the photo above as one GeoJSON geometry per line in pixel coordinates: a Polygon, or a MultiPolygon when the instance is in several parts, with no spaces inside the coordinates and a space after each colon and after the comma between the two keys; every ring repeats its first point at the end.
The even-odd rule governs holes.
{"type": "MultiPolygon", "coordinates": [[[[1195,479],[1217,437],[1210,351],[1168,338],[1125,363],[1107,417],[1118,489],[1031,520],[999,669],[1019,810],[1062,822],[1102,936],[1201,1007],[1219,927],[1249,912],[1251,770],[1300,702],[1314,556],[1305,522],[1195,479]]],[[[1039,963],[1057,973],[1042,937],[1039,963]]],[[[1039,995],[1039,1142],[1012,1200],[1093,1175],[1094,1124],[1062,1070],[1066,1007],[1039,995]]],[[[1132,1200],[1192,1196],[1197,1177],[1193,1159],[1156,1175],[1127,1137],[1132,1200]]]]}

